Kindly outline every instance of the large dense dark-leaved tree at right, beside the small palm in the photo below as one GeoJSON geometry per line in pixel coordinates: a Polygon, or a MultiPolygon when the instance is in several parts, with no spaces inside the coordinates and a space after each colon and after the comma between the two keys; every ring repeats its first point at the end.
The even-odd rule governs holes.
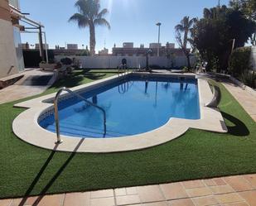
{"type": "Polygon", "coordinates": [[[255,23],[232,7],[205,8],[204,17],[191,29],[193,45],[210,68],[227,69],[232,44],[244,46],[255,31],[255,23]]]}

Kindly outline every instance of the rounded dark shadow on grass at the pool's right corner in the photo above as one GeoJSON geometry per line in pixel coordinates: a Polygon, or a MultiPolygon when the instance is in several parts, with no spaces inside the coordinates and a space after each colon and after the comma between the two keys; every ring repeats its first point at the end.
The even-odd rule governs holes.
{"type": "Polygon", "coordinates": [[[223,117],[225,117],[225,119],[229,120],[229,122],[232,122],[234,124],[234,126],[227,125],[229,134],[239,137],[249,135],[249,129],[246,127],[244,122],[240,121],[236,117],[229,115],[228,113],[221,112],[221,114],[223,117]]]}

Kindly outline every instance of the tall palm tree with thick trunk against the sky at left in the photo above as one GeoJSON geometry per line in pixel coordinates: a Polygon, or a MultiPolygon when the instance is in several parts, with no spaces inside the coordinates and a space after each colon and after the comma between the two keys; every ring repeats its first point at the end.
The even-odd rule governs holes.
{"type": "Polygon", "coordinates": [[[78,0],[75,2],[78,13],[70,17],[69,22],[77,22],[80,28],[89,26],[89,49],[90,54],[95,54],[95,26],[107,26],[110,29],[109,22],[104,16],[109,12],[104,8],[99,12],[99,0],[78,0]]]}

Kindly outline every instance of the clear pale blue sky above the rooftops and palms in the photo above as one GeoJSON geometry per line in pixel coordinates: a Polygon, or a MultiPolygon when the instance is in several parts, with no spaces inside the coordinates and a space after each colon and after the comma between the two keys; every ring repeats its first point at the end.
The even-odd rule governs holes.
{"type": "MultiPolygon", "coordinates": [[[[221,0],[228,4],[229,0],[221,0]]],[[[156,22],[162,22],[161,42],[175,42],[174,27],[184,16],[202,17],[205,7],[215,7],[218,0],[101,0],[101,8],[108,8],[106,19],[111,24],[96,28],[96,51],[111,49],[114,43],[134,42],[134,46],[157,42],[156,22]]],[[[79,29],[68,19],[77,12],[75,0],[20,0],[22,12],[46,26],[47,43],[53,48],[65,43],[89,46],[89,29],[79,29]]],[[[35,44],[36,34],[22,34],[22,41],[35,44]]],[[[176,43],[176,42],[175,42],[176,43]]]]}

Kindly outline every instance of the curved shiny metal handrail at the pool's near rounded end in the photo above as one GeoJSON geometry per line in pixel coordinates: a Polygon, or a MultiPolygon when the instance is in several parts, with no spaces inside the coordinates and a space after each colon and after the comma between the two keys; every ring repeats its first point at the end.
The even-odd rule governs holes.
{"type": "Polygon", "coordinates": [[[56,135],[57,135],[57,141],[56,143],[60,144],[62,142],[62,140],[60,139],[60,122],[59,122],[59,110],[58,110],[58,99],[60,97],[60,93],[62,93],[63,91],[68,92],[70,94],[73,94],[75,97],[81,98],[83,101],[85,101],[85,103],[88,103],[89,105],[93,106],[94,108],[98,108],[100,111],[102,111],[103,116],[104,116],[104,137],[106,135],[106,112],[104,110],[104,108],[100,108],[98,105],[89,102],[86,98],[82,97],[80,94],[75,93],[73,91],[71,91],[70,89],[67,88],[61,88],[57,93],[56,93],[56,97],[54,98],[54,113],[55,113],[55,121],[56,121],[56,135]]]}

